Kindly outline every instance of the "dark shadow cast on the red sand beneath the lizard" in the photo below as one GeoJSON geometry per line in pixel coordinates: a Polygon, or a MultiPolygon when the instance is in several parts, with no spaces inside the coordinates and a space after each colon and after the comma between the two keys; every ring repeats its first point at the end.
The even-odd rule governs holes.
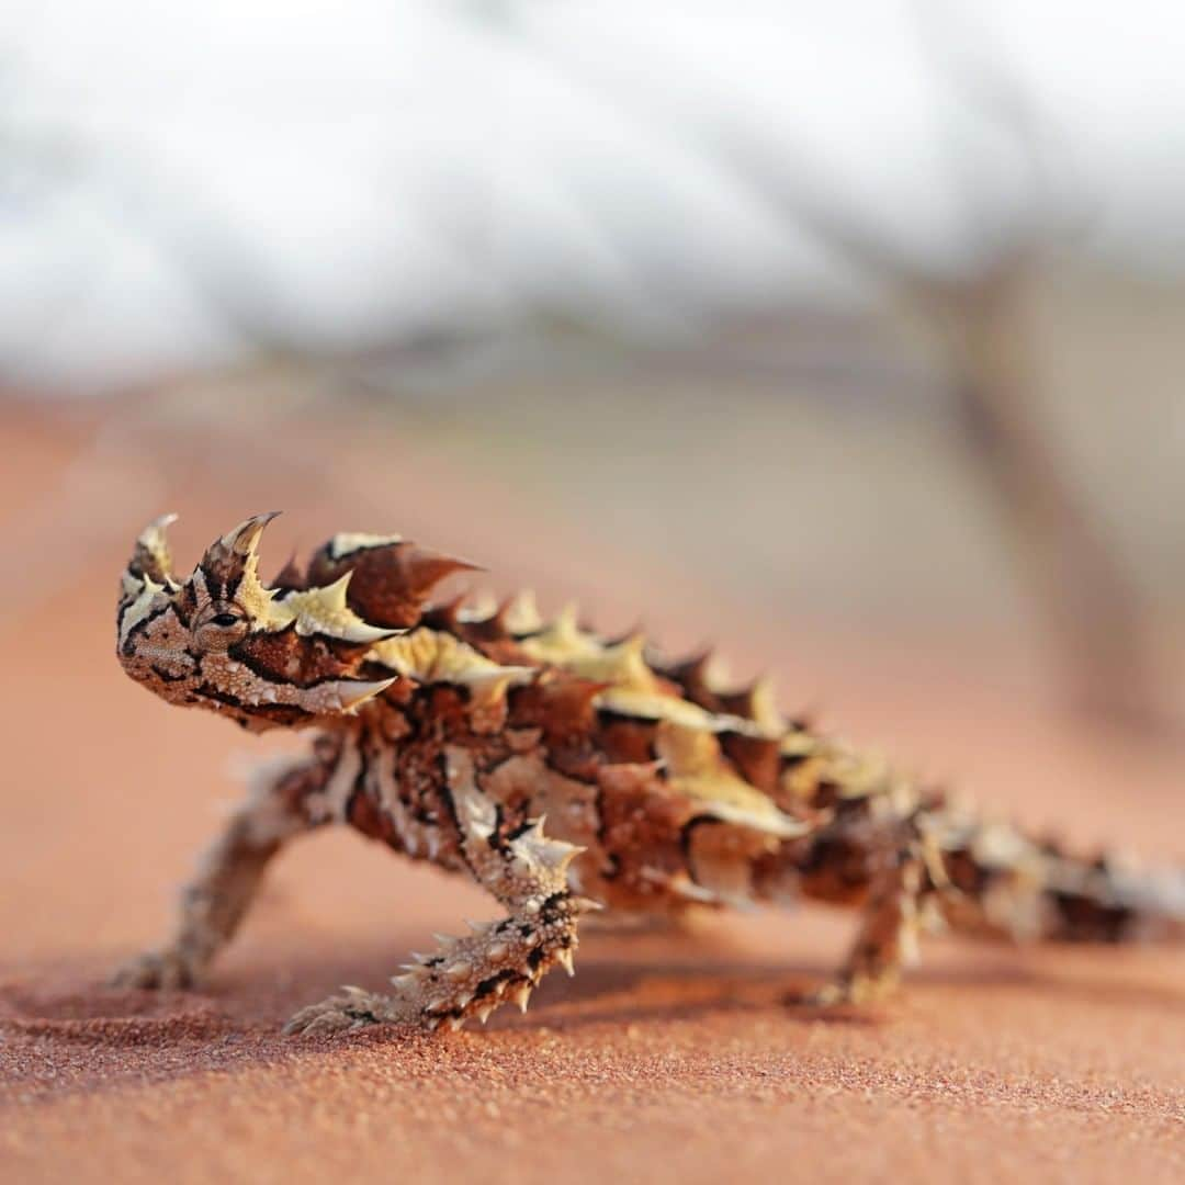
{"type": "MultiPolygon", "coordinates": [[[[8,976],[0,984],[0,1030],[36,1043],[46,1081],[59,1061],[76,1057],[70,1050],[79,1045],[87,1048],[95,1074],[104,1082],[146,1075],[172,1078],[214,1065],[231,1069],[307,1057],[324,1044],[283,1038],[282,1023],[344,982],[382,991],[395,969],[392,952],[405,949],[402,937],[315,954],[268,944],[228,960],[198,992],[105,988],[92,965],[8,976]]],[[[1138,1005],[1174,1019],[1185,1014],[1185,991],[1179,984],[1116,979],[1077,959],[1069,971],[1051,973],[1042,961],[982,963],[973,959],[923,968],[909,979],[923,989],[1023,992],[1116,1008],[1138,1005]]],[[[502,1008],[489,1029],[510,1036],[728,1013],[773,1013],[792,1024],[875,1027],[895,1014],[892,1007],[824,1011],[793,1006],[796,993],[818,986],[832,971],[833,965],[818,959],[784,966],[755,960],[703,937],[666,937],[639,946],[636,940],[597,935],[582,946],[575,979],[547,976],[526,1016],[502,1008]]],[[[480,1039],[482,1030],[474,1025],[472,1031],[480,1039]]],[[[405,1036],[378,1030],[348,1039],[370,1043],[405,1036]]]]}

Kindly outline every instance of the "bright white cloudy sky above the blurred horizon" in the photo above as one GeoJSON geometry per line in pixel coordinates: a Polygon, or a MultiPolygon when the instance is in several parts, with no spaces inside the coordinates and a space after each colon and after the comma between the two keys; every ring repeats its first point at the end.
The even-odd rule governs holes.
{"type": "Polygon", "coordinates": [[[851,299],[820,226],[949,270],[1035,210],[1185,268],[1181,0],[0,8],[0,382],[686,332],[851,299]]]}

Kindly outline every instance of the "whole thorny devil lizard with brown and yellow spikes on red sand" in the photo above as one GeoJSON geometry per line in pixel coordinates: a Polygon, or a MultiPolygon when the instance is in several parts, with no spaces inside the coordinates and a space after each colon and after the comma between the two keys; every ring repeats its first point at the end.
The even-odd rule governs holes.
{"type": "Polygon", "coordinates": [[[178,579],[149,525],[123,575],[118,656],[173,704],[252,731],[310,729],[310,751],[260,779],[186,888],[173,939],[117,973],[193,984],[294,837],[350,824],[472,876],[501,921],[442,939],[390,995],[345,988],[289,1031],[485,1020],[572,972],[581,916],[696,903],[854,905],[863,922],[814,1003],[890,988],[918,930],[1120,942],[1185,934],[1185,877],[981,821],[878,758],[784,720],[763,685],[728,690],[702,660],[604,640],[530,598],[433,604],[474,565],[397,537],[338,534],[264,585],[248,519],[178,579]]]}

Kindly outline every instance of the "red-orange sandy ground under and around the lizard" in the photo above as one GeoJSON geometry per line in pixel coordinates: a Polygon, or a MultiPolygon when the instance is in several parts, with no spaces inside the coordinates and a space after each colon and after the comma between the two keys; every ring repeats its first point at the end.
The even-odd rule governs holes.
{"type": "MultiPolygon", "coordinates": [[[[299,1005],[341,982],[380,987],[430,931],[487,911],[467,885],[341,833],[281,858],[205,992],[104,988],[114,962],[162,934],[172,886],[235,794],[228,755],[268,745],[165,707],[111,656],[126,518],[162,508],[161,492],[139,505],[134,475],[118,499],[110,474],[88,470],[81,521],[32,552],[50,512],[31,491],[51,487],[71,447],[25,421],[0,443],[4,587],[17,589],[0,685],[0,1178],[1185,1179],[1176,952],[934,941],[899,1003],[821,1020],[781,1000],[833,963],[851,920],[756,915],[694,936],[590,936],[575,980],[487,1029],[283,1039],[299,1005]]],[[[390,506],[415,507],[408,533],[508,556],[504,587],[532,579],[555,604],[590,583],[613,610],[679,588],[633,557],[581,555],[553,523],[524,539],[502,491],[424,507],[434,476],[395,457],[390,506]],[[482,507],[480,530],[466,505],[482,507]]],[[[216,497],[198,478],[164,495],[187,512],[182,559],[236,515],[300,504],[284,497],[295,485],[218,479],[216,497]]],[[[386,525],[373,506],[358,521],[340,491],[324,501],[300,524],[307,542],[347,519],[386,525]]],[[[269,542],[277,564],[282,551],[269,542]]],[[[1179,754],[1088,737],[941,658],[870,658],[743,606],[696,603],[685,585],[673,617],[688,638],[728,621],[734,652],[794,672],[795,692],[825,672],[830,720],[959,770],[982,800],[1064,819],[1078,840],[1180,856],[1179,754]]]]}

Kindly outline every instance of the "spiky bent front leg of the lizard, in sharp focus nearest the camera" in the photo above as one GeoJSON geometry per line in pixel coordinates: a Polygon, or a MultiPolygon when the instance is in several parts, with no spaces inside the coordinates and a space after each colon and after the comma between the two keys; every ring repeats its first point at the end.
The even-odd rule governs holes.
{"type": "Polygon", "coordinates": [[[574,974],[577,920],[601,908],[568,888],[568,865],[582,848],[547,839],[542,819],[500,835],[494,805],[474,782],[468,755],[453,749],[447,757],[465,860],[507,916],[474,925],[466,937],[442,939],[433,954],[418,955],[405,974],[392,979],[391,995],[344,988],[297,1012],[286,1032],[384,1023],[459,1029],[470,1017],[485,1021],[507,1000],[526,1011],[531,992],[557,963],[574,974]]]}

